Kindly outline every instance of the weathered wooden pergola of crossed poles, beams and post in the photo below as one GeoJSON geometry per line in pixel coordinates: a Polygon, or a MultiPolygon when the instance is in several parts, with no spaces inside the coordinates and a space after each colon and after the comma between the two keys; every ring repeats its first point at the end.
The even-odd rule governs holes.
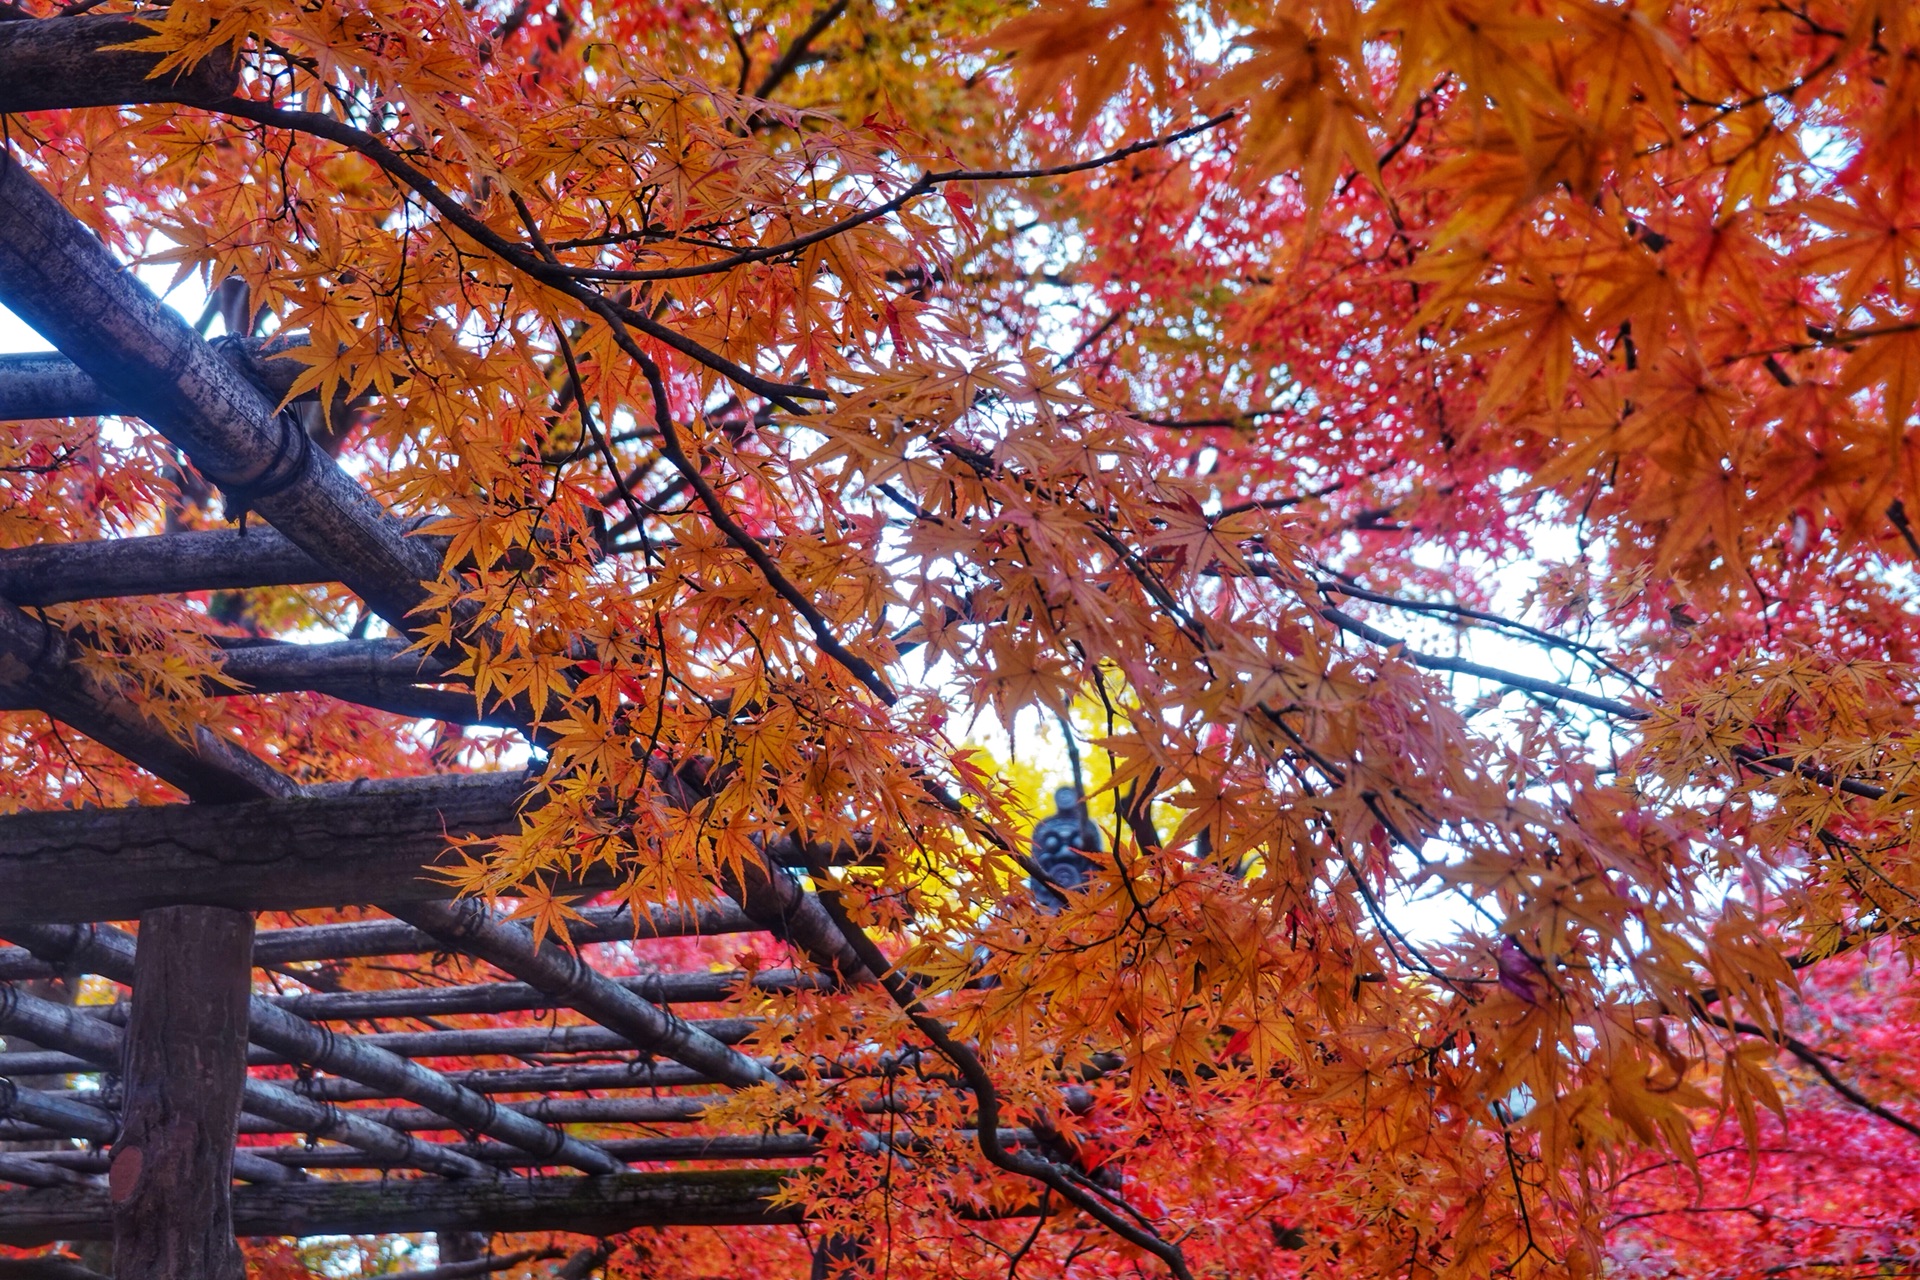
{"type": "MultiPolygon", "coordinates": [[[[152,58],[106,50],[138,35],[123,17],[0,23],[0,113],[211,104],[234,90],[230,63],[152,81],[152,58]]],[[[724,1015],[743,975],[620,977],[593,960],[636,940],[758,931],[803,967],[753,986],[870,981],[783,865],[818,852],[766,850],[720,885],[720,906],[589,910],[566,948],[486,904],[449,902],[424,875],[447,833],[511,831],[524,775],[300,787],[225,737],[182,741],[102,695],[77,666],[79,639],[29,610],[344,583],[396,639],[227,641],[225,670],[244,693],[211,693],[315,691],[532,737],[513,706],[476,714],[447,674],[451,654],[403,654],[444,545],[411,535],[276,409],[298,365],[204,342],[8,155],[0,303],[58,347],[0,357],[0,422],[138,416],[269,526],[0,551],[0,706],[44,712],[188,796],[0,818],[0,1034],[35,1046],[0,1052],[0,1182],[12,1186],[0,1244],[113,1240],[132,1280],[236,1274],[234,1234],[799,1221],[768,1197],[816,1138],[701,1119],[716,1096],[780,1079],[735,1048],[753,1021],[724,1015]],[[367,919],[255,936],[259,912],[357,906],[367,919]],[[138,944],[109,921],[138,921],[138,944]],[[470,958],[488,981],[355,992],[313,977],[317,961],[442,954],[470,958]],[[119,1000],[75,1007],[36,988],[81,973],[117,984],[119,1000]],[[507,1011],[555,1017],[438,1021],[507,1011]]]]}

